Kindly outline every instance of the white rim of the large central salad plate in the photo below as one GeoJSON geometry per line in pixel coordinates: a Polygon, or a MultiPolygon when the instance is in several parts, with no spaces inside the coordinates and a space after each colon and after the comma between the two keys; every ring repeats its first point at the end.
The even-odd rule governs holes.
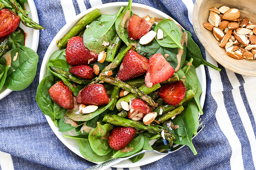
{"type": "MultiPolygon", "coordinates": [[[[55,37],[53,38],[52,42],[50,43],[46,53],[45,53],[45,56],[44,56],[44,59],[42,61],[42,66],[41,66],[41,70],[40,70],[40,75],[39,75],[39,82],[43,79],[43,77],[46,75],[46,70],[47,70],[47,62],[51,56],[51,54],[54,52],[52,51],[51,49],[53,49],[53,46],[57,47],[56,45],[56,42],[57,40],[59,40],[60,38],[63,37],[64,33],[63,32],[67,32],[65,31],[70,25],[74,24],[76,22],[78,22],[78,20],[80,18],[82,18],[85,14],[89,13],[90,11],[92,11],[93,9],[104,9],[104,8],[110,8],[110,7],[114,7],[114,6],[118,6],[119,8],[121,6],[124,6],[126,7],[128,4],[128,2],[113,2],[113,3],[107,3],[107,4],[102,4],[102,5],[99,5],[99,6],[96,6],[96,7],[93,7],[91,9],[87,9],[83,12],[81,12],[80,14],[78,14],[75,18],[74,18],[74,21],[70,21],[68,22],[67,24],[65,24],[60,30],[59,32],[55,35],[55,37]],[[61,36],[62,35],[62,36],[61,36]],[[50,49],[51,47],[51,49],[50,49]]],[[[145,10],[150,10],[150,11],[157,11],[163,18],[169,18],[169,19],[172,19],[170,16],[168,16],[167,14],[163,13],[162,11],[158,10],[158,9],[155,9],[155,8],[152,8],[152,7],[149,7],[149,6],[146,6],[146,5],[143,5],[143,4],[138,4],[138,3],[132,3],[132,7],[133,8],[142,8],[142,9],[145,9],[145,10]]],[[[172,19],[176,24],[180,25],[178,22],[176,22],[174,19],[172,19]]],[[[205,94],[206,94],[206,75],[205,75],[205,69],[204,69],[204,66],[201,65],[199,66],[197,69],[196,69],[196,72],[197,74],[198,73],[201,73],[202,76],[201,77],[198,77],[199,78],[199,81],[201,83],[201,86],[202,86],[202,90],[203,90],[203,93],[201,94],[200,96],[200,103],[201,103],[201,106],[203,107],[203,104],[204,104],[204,100],[205,100],[205,94]]],[[[71,151],[73,151],[75,154],[77,154],[78,156],[84,158],[80,152],[79,152],[79,149],[76,148],[76,151],[74,150],[74,147],[72,145],[72,143],[74,142],[74,140],[72,139],[68,139],[68,138],[63,138],[63,134],[67,134],[67,133],[63,133],[63,132],[59,132],[58,131],[58,127],[55,127],[55,125],[53,124],[53,121],[51,120],[51,118],[47,115],[45,115],[46,117],[46,120],[47,122],[49,123],[50,127],[52,128],[54,134],[59,138],[59,140],[65,145],[67,146],[71,151]],[[71,143],[71,144],[68,144],[68,142],[71,143]]],[[[183,146],[182,146],[183,147],[183,146]]],[[[112,166],[112,167],[116,167],[116,168],[132,168],[132,167],[137,167],[137,166],[142,166],[142,165],[146,165],[146,164],[149,164],[151,162],[154,162],[154,161],[157,161],[163,157],[165,157],[167,155],[160,155],[160,154],[157,154],[157,153],[153,153],[153,152],[147,152],[145,153],[144,157],[138,161],[138,162],[135,162],[135,163],[132,163],[130,160],[126,160],[126,161],[123,161],[115,166],[112,166]],[[149,157],[147,155],[149,154],[154,154],[154,157],[153,159],[150,159],[149,160],[149,157]]],[[[89,160],[88,160],[89,161],[89,160]]],[[[101,163],[101,162],[94,162],[94,163],[101,163]]]]}

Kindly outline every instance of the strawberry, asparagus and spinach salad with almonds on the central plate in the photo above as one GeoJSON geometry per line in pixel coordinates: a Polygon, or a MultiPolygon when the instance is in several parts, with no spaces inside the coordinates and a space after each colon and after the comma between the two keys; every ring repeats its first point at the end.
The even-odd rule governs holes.
{"type": "Polygon", "coordinates": [[[152,150],[149,141],[160,138],[196,155],[191,139],[203,110],[195,69],[218,68],[202,58],[190,32],[131,7],[130,0],[114,15],[94,9],[57,42],[38,106],[60,132],[75,129],[64,137],[76,140],[89,161],[152,150]]]}

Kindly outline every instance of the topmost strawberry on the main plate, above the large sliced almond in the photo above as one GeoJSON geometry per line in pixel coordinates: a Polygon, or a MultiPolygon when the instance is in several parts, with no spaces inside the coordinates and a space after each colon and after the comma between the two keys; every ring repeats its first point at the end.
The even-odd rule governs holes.
{"type": "Polygon", "coordinates": [[[150,28],[153,26],[152,23],[140,18],[137,15],[132,15],[128,24],[128,33],[131,40],[138,40],[143,35],[148,33],[150,28]]]}

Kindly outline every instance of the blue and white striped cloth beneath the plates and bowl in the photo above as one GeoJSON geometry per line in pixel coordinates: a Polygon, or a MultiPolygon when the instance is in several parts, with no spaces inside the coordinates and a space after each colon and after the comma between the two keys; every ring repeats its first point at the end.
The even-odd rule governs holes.
{"type": "MultiPolygon", "coordinates": [[[[93,166],[55,136],[35,101],[39,70],[50,42],[66,22],[81,11],[117,0],[35,0],[40,31],[38,72],[25,90],[0,100],[1,170],[73,170],[93,166]],[[8,154],[7,154],[8,153],[8,154]]],[[[125,0],[126,1],[126,0],[125,0]]],[[[195,0],[134,0],[173,17],[200,46],[204,59],[222,68],[205,67],[207,90],[202,116],[205,127],[193,139],[198,155],[183,147],[159,161],[136,168],[112,170],[253,170],[256,163],[256,78],[231,72],[205,51],[192,26],[195,0]]]]}

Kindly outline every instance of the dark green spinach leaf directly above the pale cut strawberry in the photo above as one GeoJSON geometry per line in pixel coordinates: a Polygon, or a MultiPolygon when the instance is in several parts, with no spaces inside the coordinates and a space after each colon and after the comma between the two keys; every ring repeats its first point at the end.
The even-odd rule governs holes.
{"type": "Polygon", "coordinates": [[[159,43],[153,39],[147,45],[141,45],[138,43],[139,51],[147,52],[148,54],[145,56],[146,58],[150,59],[150,57],[156,53],[160,53],[161,55],[168,54],[168,58],[166,60],[171,64],[173,68],[176,68],[178,65],[177,54],[178,48],[167,48],[162,47],[159,43]]]}

